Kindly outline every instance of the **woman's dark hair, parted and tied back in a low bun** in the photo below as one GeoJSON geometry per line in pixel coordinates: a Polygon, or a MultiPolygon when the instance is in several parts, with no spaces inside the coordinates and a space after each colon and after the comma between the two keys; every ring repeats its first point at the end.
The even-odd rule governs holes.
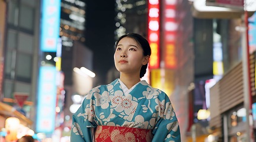
{"type": "MultiPolygon", "coordinates": [[[[119,43],[119,41],[121,39],[123,39],[124,37],[130,37],[130,38],[133,38],[137,44],[139,44],[142,49],[143,49],[143,55],[144,56],[151,56],[151,47],[149,46],[149,42],[148,40],[146,40],[145,37],[143,37],[142,35],[140,34],[136,34],[136,33],[129,33],[129,34],[124,34],[122,35],[117,41],[116,41],[116,47],[117,47],[117,44],[119,43]]],[[[148,63],[143,65],[142,68],[140,69],[140,78],[142,78],[145,73],[146,73],[146,68],[148,67],[148,63]]]]}

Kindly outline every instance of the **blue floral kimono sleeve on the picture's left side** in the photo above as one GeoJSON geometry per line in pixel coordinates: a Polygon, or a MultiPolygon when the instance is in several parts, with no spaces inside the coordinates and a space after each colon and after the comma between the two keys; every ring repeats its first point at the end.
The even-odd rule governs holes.
{"type": "Polygon", "coordinates": [[[93,130],[96,127],[94,116],[92,100],[85,98],[72,116],[71,142],[93,141],[93,130]]]}

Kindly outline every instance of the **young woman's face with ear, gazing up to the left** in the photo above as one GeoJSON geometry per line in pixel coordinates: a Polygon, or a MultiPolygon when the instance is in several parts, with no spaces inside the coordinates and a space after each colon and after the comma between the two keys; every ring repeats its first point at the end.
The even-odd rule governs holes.
{"type": "Polygon", "coordinates": [[[148,57],[133,38],[124,37],[117,44],[114,63],[121,73],[138,73],[142,65],[148,63],[148,57]]]}

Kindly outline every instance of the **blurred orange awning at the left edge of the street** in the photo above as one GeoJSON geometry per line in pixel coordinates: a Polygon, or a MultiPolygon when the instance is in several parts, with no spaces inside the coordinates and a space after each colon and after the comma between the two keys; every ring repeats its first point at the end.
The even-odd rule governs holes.
{"type": "Polygon", "coordinates": [[[0,102],[0,115],[4,115],[4,117],[17,117],[21,122],[24,122],[27,125],[33,124],[33,121],[25,117],[25,115],[18,112],[14,107],[3,102],[0,102]]]}

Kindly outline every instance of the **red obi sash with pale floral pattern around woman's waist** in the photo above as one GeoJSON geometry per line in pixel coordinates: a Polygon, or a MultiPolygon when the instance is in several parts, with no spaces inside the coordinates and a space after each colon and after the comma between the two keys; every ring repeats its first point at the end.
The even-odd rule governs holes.
{"type": "Polygon", "coordinates": [[[98,125],[94,133],[94,139],[96,142],[101,141],[140,141],[148,142],[152,141],[152,130],[146,130],[141,128],[130,127],[116,127],[108,125],[98,125]]]}

